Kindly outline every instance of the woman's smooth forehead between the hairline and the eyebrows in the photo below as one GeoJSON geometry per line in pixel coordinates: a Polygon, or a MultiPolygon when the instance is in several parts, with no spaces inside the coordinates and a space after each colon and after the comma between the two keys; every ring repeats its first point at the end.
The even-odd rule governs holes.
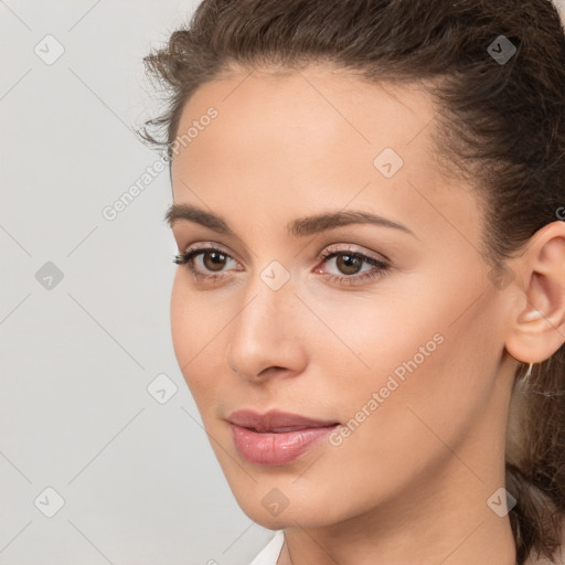
{"type": "Polygon", "coordinates": [[[446,188],[440,175],[437,111],[423,84],[373,84],[323,65],[233,71],[183,108],[178,139],[192,135],[173,156],[174,200],[203,200],[224,216],[245,202],[284,218],[355,200],[427,224],[458,206],[460,225],[476,225],[470,186],[446,188]],[[203,119],[210,108],[215,117],[203,119]]]}

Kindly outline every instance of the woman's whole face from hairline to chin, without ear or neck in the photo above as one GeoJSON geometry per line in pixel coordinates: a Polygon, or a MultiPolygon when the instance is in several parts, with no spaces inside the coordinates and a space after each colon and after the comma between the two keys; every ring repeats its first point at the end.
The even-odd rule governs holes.
{"type": "Polygon", "coordinates": [[[234,71],[183,109],[172,230],[196,253],[174,278],[174,351],[267,527],[385,509],[438,477],[476,488],[446,446],[491,465],[503,312],[477,194],[439,173],[436,110],[416,85],[323,65],[234,71]],[[305,220],[326,214],[345,215],[305,220]]]}

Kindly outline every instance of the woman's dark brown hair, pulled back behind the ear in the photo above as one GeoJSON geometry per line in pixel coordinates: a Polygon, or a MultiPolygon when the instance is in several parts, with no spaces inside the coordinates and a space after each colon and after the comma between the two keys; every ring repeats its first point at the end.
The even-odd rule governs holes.
{"type": "MultiPolygon", "coordinates": [[[[563,218],[565,34],[550,0],[204,0],[145,62],[167,87],[169,106],[140,135],[167,147],[169,158],[184,103],[232,64],[328,62],[369,82],[422,83],[437,97],[437,164],[480,189],[483,255],[493,267],[563,218]],[[150,130],[163,127],[159,141],[150,130]]],[[[565,345],[527,382],[518,379],[522,370],[507,447],[520,565],[532,550],[552,558],[559,547],[565,345]]]]}

